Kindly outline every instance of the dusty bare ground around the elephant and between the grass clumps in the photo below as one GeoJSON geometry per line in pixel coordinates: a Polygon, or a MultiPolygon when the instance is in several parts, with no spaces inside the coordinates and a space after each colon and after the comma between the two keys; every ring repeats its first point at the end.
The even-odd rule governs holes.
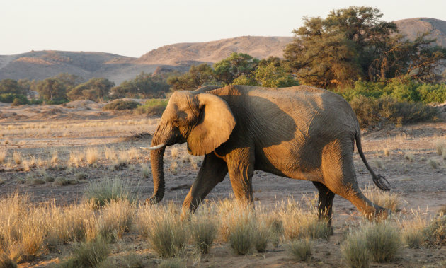
{"type": "MultiPolygon", "coordinates": [[[[0,146],[7,148],[6,161],[0,164],[0,196],[16,190],[29,192],[36,202],[55,199],[59,204],[79,202],[88,182],[119,177],[129,180],[135,190],[140,190],[142,199],[151,195],[151,177],[142,176],[143,165],[149,163],[149,153],[133,150],[127,154],[130,164],[123,170],[115,170],[114,160],[106,159],[105,147],[114,148],[119,154],[147,146],[151,137],[136,139],[135,134],[153,133],[159,117],[113,113],[101,110],[101,104],[76,101],[68,105],[20,106],[0,105],[0,146]],[[132,139],[132,136],[135,139],[132,139]],[[86,161],[73,166],[70,152],[97,148],[99,160],[93,165],[86,161]],[[35,166],[13,163],[13,151],[21,153],[23,160],[35,158],[35,166]],[[55,153],[56,152],[56,153],[55,153]],[[54,159],[54,156],[57,156],[54,159]],[[53,158],[53,159],[52,159],[53,158]],[[40,165],[40,166],[39,166],[40,165]],[[27,171],[25,171],[27,170],[27,171]],[[45,170],[45,172],[43,172],[45,170]],[[33,185],[33,178],[46,173],[52,177],[65,177],[72,183],[58,186],[55,182],[33,185]],[[85,173],[86,180],[79,180],[79,173],[85,173]]],[[[446,122],[408,125],[389,128],[379,132],[369,132],[362,136],[365,156],[372,168],[385,175],[392,191],[404,199],[401,214],[411,209],[434,215],[441,206],[446,205],[446,161],[435,148],[438,141],[446,139],[446,122]],[[388,153],[385,153],[388,152],[388,153]],[[433,165],[438,163],[438,167],[433,165]]],[[[179,204],[188,192],[201,158],[188,156],[185,145],[168,148],[165,154],[166,200],[179,204]]],[[[360,187],[371,183],[371,177],[355,153],[355,168],[360,187]]],[[[268,173],[256,172],[253,178],[256,203],[262,206],[274,205],[282,199],[300,199],[304,194],[316,190],[311,182],[291,180],[268,173]]],[[[222,199],[231,197],[229,178],[215,187],[208,198],[222,199]]],[[[217,244],[210,255],[202,257],[202,267],[343,267],[340,243],[345,226],[360,221],[358,210],[350,202],[336,197],[334,200],[334,235],[327,241],[314,245],[314,255],[309,262],[295,262],[285,252],[285,246],[268,247],[264,254],[251,254],[245,257],[234,255],[227,245],[217,244]]],[[[159,262],[154,252],[146,244],[132,235],[115,245],[115,255],[122,254],[122,248],[132,249],[144,256],[147,266],[159,262]]],[[[63,250],[62,250],[63,251],[63,250]]],[[[411,250],[404,248],[399,257],[389,264],[375,264],[379,267],[441,267],[445,260],[446,247],[411,250]]],[[[23,266],[46,266],[61,255],[50,254],[23,266]]],[[[193,262],[188,262],[193,265],[193,262]]]]}

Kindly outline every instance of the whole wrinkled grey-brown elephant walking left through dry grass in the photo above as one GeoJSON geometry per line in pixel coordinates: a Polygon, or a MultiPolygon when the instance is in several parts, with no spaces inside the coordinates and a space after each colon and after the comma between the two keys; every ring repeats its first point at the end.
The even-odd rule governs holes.
{"type": "MultiPolygon", "coordinates": [[[[311,180],[319,191],[319,219],[331,224],[335,194],[348,199],[363,214],[387,216],[358,187],[353,167],[356,145],[374,183],[389,190],[362,153],[355,113],[341,96],[320,88],[206,87],[176,91],[171,96],[151,146],[188,143],[189,153],[205,155],[198,176],[183,203],[195,211],[229,172],[237,199],[253,201],[254,170],[282,177],[311,180]]],[[[154,194],[164,196],[164,148],[151,151],[154,194]]],[[[386,183],[387,182],[387,183],[386,183]]]]}

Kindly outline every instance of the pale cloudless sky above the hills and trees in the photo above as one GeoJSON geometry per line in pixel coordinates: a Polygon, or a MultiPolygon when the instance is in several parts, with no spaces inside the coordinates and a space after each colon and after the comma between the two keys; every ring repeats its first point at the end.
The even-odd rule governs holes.
{"type": "Polygon", "coordinates": [[[130,57],[177,42],[241,35],[292,36],[302,17],[372,6],[384,21],[446,21],[446,0],[0,0],[0,54],[96,51],[130,57]]]}

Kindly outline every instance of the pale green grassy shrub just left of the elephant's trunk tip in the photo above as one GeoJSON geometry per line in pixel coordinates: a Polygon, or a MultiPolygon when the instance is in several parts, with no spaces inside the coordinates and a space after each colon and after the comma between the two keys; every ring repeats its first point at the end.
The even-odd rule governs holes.
{"type": "Polygon", "coordinates": [[[139,193],[129,189],[129,182],[113,179],[90,182],[86,187],[84,197],[96,206],[104,206],[113,201],[127,201],[135,203],[139,198],[139,193]]]}

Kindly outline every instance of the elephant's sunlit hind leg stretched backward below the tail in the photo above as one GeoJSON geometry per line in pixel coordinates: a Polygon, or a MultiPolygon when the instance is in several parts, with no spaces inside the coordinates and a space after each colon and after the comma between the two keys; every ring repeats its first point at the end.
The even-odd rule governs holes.
{"type": "Polygon", "coordinates": [[[372,203],[362,194],[356,180],[355,167],[353,165],[352,146],[341,146],[334,141],[324,148],[322,156],[322,173],[324,185],[331,192],[340,195],[350,201],[368,219],[387,218],[389,209],[384,209],[372,203]]]}

